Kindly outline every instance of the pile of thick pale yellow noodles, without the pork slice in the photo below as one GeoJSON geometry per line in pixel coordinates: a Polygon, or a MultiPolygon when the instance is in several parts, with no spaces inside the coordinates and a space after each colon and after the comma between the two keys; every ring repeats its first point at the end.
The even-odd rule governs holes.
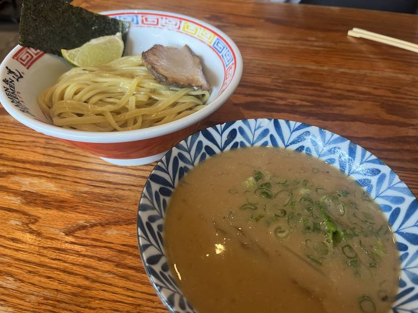
{"type": "Polygon", "coordinates": [[[200,89],[160,84],[135,55],[71,69],[38,96],[38,104],[57,126],[121,131],[178,120],[205,107],[209,96],[200,89]]]}

